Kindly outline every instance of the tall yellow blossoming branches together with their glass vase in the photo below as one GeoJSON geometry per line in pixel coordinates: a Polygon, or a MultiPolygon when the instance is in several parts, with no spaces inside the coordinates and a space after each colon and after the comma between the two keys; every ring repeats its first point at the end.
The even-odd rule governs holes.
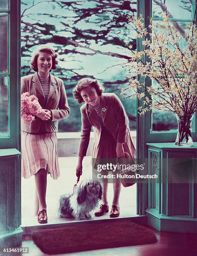
{"type": "MultiPolygon", "coordinates": [[[[195,14],[196,10],[194,17],[195,14]]],[[[129,78],[129,87],[123,91],[131,89],[129,97],[137,96],[142,100],[140,114],[154,108],[175,113],[178,120],[175,145],[193,146],[192,117],[197,110],[197,28],[193,20],[184,30],[180,29],[179,23],[171,21],[167,12],[162,18],[158,23],[150,19],[148,28],[144,27],[142,16],[129,18],[136,29],[136,37],[143,42],[143,49],[135,52],[127,45],[131,50],[129,72],[134,74],[129,78]],[[156,83],[147,86],[146,82],[140,82],[139,76],[156,83]]]]}

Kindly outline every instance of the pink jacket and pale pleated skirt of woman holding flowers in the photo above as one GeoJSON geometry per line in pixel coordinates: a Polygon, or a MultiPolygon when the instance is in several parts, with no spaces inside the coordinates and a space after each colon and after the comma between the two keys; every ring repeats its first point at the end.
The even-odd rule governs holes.
{"type": "Polygon", "coordinates": [[[40,84],[38,73],[21,78],[21,93],[29,92],[38,97],[38,102],[44,109],[51,110],[52,118],[56,125],[53,131],[47,121],[36,118],[32,123],[21,120],[22,144],[22,177],[29,178],[40,169],[45,169],[53,179],[60,176],[57,156],[57,125],[58,120],[67,118],[70,110],[68,107],[66,91],[63,81],[50,74],[49,92],[47,99],[40,84]]]}

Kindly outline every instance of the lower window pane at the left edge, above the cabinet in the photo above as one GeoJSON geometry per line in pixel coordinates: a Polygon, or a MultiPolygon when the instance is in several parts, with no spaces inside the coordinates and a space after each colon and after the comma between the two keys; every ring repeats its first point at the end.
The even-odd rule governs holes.
{"type": "Polygon", "coordinates": [[[0,136],[8,135],[8,77],[0,77],[0,136]]]}

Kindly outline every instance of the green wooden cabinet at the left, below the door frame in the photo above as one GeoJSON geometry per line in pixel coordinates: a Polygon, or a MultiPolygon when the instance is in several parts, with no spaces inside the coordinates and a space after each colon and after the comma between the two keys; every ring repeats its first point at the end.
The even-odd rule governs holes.
{"type": "Polygon", "coordinates": [[[0,149],[0,247],[20,246],[20,152],[0,149]]]}

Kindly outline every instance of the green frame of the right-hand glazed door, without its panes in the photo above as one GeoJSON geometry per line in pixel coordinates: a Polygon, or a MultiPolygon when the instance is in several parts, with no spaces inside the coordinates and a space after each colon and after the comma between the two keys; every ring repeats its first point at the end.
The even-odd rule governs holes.
{"type": "MultiPolygon", "coordinates": [[[[197,0],[193,0],[193,6],[197,3],[197,0]]],[[[143,16],[144,25],[149,31],[149,17],[152,17],[152,0],[137,0],[137,16],[143,16]]],[[[197,14],[195,16],[195,21],[197,21],[197,14]]],[[[137,40],[137,51],[142,50],[142,41],[141,38],[137,40]]],[[[146,86],[151,85],[151,79],[148,77],[144,78],[138,76],[139,81],[145,82],[146,86]]],[[[143,107],[143,98],[137,99],[137,109],[138,107],[143,107]]],[[[137,111],[138,112],[138,111],[137,111]]],[[[137,113],[137,136],[136,136],[136,152],[138,159],[147,159],[148,158],[148,146],[146,143],[154,142],[175,142],[177,132],[150,132],[151,128],[151,115],[150,111],[147,111],[144,115],[137,113]]],[[[197,128],[197,118],[195,120],[195,127],[197,128]]],[[[193,141],[197,141],[197,132],[192,132],[193,141]]],[[[148,170],[144,170],[147,174],[148,170]]],[[[149,198],[149,188],[148,184],[137,183],[137,214],[146,215],[146,209],[148,208],[148,198],[149,198]]]]}

